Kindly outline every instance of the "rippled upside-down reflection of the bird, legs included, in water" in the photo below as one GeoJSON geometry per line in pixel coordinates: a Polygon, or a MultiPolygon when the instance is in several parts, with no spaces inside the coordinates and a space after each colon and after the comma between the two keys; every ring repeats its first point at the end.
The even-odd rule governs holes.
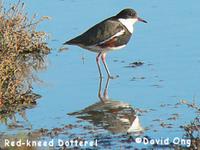
{"type": "Polygon", "coordinates": [[[102,79],[100,79],[98,90],[100,101],[68,115],[86,120],[112,133],[141,133],[143,128],[140,125],[136,111],[128,103],[110,99],[108,97],[108,85],[109,78],[102,94],[102,79]]]}

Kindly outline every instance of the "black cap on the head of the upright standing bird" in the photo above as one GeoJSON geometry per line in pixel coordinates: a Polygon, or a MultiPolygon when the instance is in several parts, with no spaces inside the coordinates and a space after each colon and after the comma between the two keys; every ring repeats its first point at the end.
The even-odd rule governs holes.
{"type": "Polygon", "coordinates": [[[137,18],[137,13],[135,10],[131,8],[126,8],[120,11],[116,16],[116,18],[123,18],[123,19],[129,19],[129,18],[137,18]]]}

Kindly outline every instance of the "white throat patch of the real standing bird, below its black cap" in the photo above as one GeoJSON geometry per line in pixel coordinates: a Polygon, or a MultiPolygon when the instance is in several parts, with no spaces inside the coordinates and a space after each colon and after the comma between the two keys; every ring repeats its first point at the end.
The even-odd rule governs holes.
{"type": "Polygon", "coordinates": [[[137,18],[129,18],[129,19],[122,19],[120,18],[119,21],[128,29],[130,33],[133,33],[133,25],[138,21],[137,18]]]}

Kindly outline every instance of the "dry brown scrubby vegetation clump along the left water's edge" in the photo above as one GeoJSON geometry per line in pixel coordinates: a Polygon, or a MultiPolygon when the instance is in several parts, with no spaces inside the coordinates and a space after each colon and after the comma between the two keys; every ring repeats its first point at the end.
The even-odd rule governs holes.
{"type": "Polygon", "coordinates": [[[8,9],[0,1],[0,119],[38,98],[32,82],[37,80],[35,72],[46,68],[50,48],[47,34],[36,29],[45,19],[28,17],[21,1],[8,9]]]}

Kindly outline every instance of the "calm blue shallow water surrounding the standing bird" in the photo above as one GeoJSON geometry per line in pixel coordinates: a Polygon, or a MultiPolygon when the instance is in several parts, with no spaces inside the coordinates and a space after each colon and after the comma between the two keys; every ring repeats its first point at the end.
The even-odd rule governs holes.
{"type": "MultiPolygon", "coordinates": [[[[8,126],[0,124],[2,133],[12,135],[40,128],[52,129],[67,124],[77,124],[78,127],[72,131],[66,129],[71,134],[60,134],[55,139],[68,139],[71,138],[69,135],[73,135],[73,138],[81,136],[86,140],[98,138],[100,147],[108,149],[120,146],[145,147],[143,144],[127,142],[128,136],[124,132],[119,130],[115,133],[110,129],[117,120],[115,115],[114,121],[113,118],[109,118],[113,117],[111,114],[119,112],[126,117],[131,114],[122,107],[120,111],[108,111],[111,114],[98,114],[92,111],[90,114],[100,115],[96,120],[92,117],[95,115],[88,118],[67,115],[100,101],[99,77],[94,53],[73,46],[69,46],[69,50],[65,52],[58,52],[66,40],[116,14],[119,10],[131,7],[136,9],[139,16],[147,20],[148,24],[137,23],[129,44],[122,50],[108,54],[107,62],[111,73],[119,75],[118,79],[109,82],[109,99],[126,103],[133,110],[137,110],[136,114],[145,130],[134,136],[145,135],[155,139],[183,136],[183,130],[179,126],[189,123],[196,114],[186,106],[174,108],[174,105],[180,100],[188,102],[195,100],[197,104],[200,103],[199,1],[47,2],[40,0],[38,3],[27,0],[24,2],[31,14],[36,12],[39,16],[52,17],[50,21],[42,23],[39,29],[50,33],[49,45],[53,51],[48,58],[48,69],[38,73],[44,84],[35,84],[34,91],[42,95],[42,98],[35,108],[25,110],[28,122],[17,115],[18,123],[24,127],[9,129],[8,126]],[[135,61],[144,64],[138,67],[126,67],[135,61]],[[164,106],[166,104],[169,105],[164,106]],[[179,114],[177,120],[167,120],[171,114],[176,113],[179,114]],[[164,120],[172,124],[172,127],[163,128],[158,121],[155,121],[156,119],[164,120]],[[84,126],[92,126],[95,133],[88,134],[84,126]]],[[[103,88],[105,82],[104,78],[103,88]]],[[[105,108],[102,109],[105,111],[105,108]]]]}

